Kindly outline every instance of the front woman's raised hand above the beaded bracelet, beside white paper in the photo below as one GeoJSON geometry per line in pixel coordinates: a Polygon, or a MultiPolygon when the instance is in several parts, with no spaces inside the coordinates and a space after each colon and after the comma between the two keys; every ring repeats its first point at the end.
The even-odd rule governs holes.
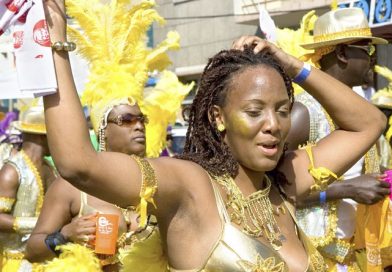
{"type": "Polygon", "coordinates": [[[64,0],[45,0],[43,4],[51,41],[66,41],[67,19],[64,0]]]}

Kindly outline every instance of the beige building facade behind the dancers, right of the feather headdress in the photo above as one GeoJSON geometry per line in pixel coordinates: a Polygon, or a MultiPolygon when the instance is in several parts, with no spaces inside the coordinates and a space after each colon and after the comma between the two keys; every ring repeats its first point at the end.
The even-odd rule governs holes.
{"type": "MultiPolygon", "coordinates": [[[[184,81],[195,80],[208,57],[230,47],[241,35],[256,33],[260,6],[268,10],[280,28],[296,29],[303,15],[316,10],[321,15],[330,10],[332,0],[157,0],[159,14],[167,20],[164,27],[153,29],[159,42],[165,33],[176,30],[181,36],[181,50],[171,53],[173,70],[184,81]]],[[[376,36],[392,40],[392,0],[344,0],[339,8],[357,6],[368,16],[376,36]]],[[[377,64],[392,67],[392,46],[378,46],[377,64]]],[[[385,79],[379,77],[379,85],[385,79]]]]}

